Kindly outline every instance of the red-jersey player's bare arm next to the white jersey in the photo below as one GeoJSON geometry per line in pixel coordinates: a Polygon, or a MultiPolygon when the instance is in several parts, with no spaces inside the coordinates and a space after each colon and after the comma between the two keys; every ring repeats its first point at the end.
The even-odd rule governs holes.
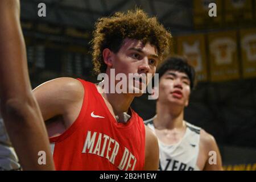
{"type": "Polygon", "coordinates": [[[159,167],[159,146],[155,134],[145,126],[146,146],[144,171],[157,171],[159,167]]]}

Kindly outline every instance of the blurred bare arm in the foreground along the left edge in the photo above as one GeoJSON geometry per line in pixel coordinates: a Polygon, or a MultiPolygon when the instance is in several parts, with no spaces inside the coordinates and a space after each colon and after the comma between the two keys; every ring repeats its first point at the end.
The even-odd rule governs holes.
{"type": "Polygon", "coordinates": [[[52,170],[46,128],[28,77],[18,0],[0,1],[0,98],[7,133],[24,170],[52,170]],[[38,152],[46,152],[39,165],[38,152]]]}

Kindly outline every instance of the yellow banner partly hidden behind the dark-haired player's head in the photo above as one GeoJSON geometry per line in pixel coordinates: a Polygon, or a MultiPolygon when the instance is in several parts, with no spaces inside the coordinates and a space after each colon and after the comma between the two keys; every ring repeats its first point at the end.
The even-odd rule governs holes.
{"type": "Polygon", "coordinates": [[[195,68],[198,81],[207,81],[204,35],[178,37],[177,53],[188,58],[189,63],[195,68]]]}

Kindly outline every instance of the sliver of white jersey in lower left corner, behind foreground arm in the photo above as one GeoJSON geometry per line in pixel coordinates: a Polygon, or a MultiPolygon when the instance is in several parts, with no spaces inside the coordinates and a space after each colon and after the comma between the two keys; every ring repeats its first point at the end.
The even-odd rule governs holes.
{"type": "Polygon", "coordinates": [[[11,142],[0,113],[0,171],[18,169],[20,169],[18,157],[16,156],[14,148],[11,146],[11,142]]]}

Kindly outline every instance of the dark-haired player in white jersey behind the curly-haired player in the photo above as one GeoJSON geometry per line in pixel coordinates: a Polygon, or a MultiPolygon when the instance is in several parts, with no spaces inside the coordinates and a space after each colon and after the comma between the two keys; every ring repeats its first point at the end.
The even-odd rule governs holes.
{"type": "Polygon", "coordinates": [[[157,73],[159,85],[154,88],[159,92],[156,115],[145,124],[158,137],[159,169],[221,170],[221,155],[214,137],[184,121],[184,108],[195,87],[195,70],[184,57],[169,57],[157,73]]]}

